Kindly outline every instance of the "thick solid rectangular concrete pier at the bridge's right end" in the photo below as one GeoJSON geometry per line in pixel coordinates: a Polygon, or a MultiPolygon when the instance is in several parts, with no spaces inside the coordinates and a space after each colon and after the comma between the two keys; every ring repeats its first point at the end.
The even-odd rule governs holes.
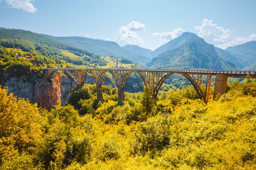
{"type": "Polygon", "coordinates": [[[213,99],[217,96],[217,94],[224,94],[227,88],[227,76],[223,74],[217,74],[215,78],[215,87],[213,93],[213,99]]]}

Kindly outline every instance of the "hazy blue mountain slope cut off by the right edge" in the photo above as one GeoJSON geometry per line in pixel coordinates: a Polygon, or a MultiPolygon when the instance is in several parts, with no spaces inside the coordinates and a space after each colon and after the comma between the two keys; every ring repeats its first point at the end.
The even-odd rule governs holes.
{"type": "Polygon", "coordinates": [[[256,61],[256,41],[250,41],[244,44],[228,47],[225,50],[247,63],[251,64],[256,61]]]}

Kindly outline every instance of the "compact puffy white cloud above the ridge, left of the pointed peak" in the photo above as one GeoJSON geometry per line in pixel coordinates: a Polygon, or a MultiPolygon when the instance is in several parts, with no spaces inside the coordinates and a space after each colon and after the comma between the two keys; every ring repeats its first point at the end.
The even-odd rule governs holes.
{"type": "Polygon", "coordinates": [[[132,44],[132,45],[143,45],[144,42],[140,36],[138,36],[138,31],[145,30],[145,24],[132,21],[127,26],[121,26],[118,30],[116,37],[120,45],[132,44]]]}

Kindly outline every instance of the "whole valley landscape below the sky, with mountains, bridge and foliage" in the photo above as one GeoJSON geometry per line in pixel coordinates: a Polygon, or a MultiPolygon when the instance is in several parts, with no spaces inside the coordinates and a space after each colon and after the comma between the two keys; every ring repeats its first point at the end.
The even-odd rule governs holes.
{"type": "Polygon", "coordinates": [[[253,170],[255,48],[0,29],[0,169],[253,170]]]}

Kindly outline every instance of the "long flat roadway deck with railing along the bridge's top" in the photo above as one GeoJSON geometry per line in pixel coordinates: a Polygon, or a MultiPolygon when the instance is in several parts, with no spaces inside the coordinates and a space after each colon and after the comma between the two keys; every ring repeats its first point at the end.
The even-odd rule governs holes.
{"type": "Polygon", "coordinates": [[[189,69],[151,69],[151,68],[44,68],[49,70],[104,70],[104,71],[155,71],[155,72],[172,72],[181,74],[223,74],[228,77],[244,77],[250,75],[256,77],[256,71],[248,70],[189,70],[189,69]]]}

